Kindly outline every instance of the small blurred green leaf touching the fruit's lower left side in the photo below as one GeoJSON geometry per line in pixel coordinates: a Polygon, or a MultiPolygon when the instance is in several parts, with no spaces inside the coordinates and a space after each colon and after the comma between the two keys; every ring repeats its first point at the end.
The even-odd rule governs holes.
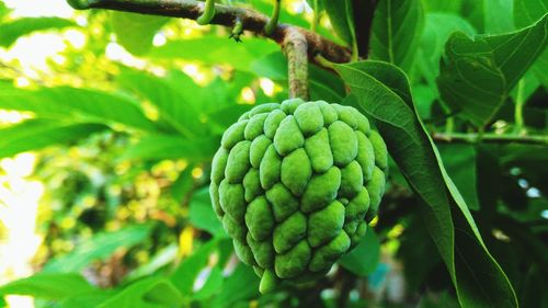
{"type": "Polygon", "coordinates": [[[225,229],[213,210],[208,187],[195,192],[190,206],[190,219],[194,227],[206,230],[214,236],[226,237],[225,229]]]}

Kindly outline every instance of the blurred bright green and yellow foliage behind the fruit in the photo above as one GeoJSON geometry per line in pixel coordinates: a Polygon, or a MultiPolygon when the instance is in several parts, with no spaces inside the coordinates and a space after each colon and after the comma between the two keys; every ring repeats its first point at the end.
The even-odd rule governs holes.
{"type": "MultiPolygon", "coordinates": [[[[499,8],[502,18],[483,1],[416,7],[415,52],[401,66],[431,132],[473,130],[450,116],[436,87],[449,34],[504,33],[543,15],[537,1],[514,2],[499,8]]],[[[282,22],[315,20],[305,1],[283,10],[282,22]]],[[[319,18],[320,34],[347,42],[319,18]]],[[[393,163],[362,244],[313,285],[259,295],[213,213],[209,162],[241,113],[287,98],[287,69],[275,43],[246,34],[238,44],[229,34],[178,19],[75,12],[61,0],[0,1],[0,307],[458,307],[393,163]]],[[[489,132],[547,133],[541,60],[546,52],[489,132]]],[[[312,100],[345,98],[335,75],[310,67],[310,76],[312,100]]],[[[438,150],[522,307],[548,307],[547,147],[438,150]]]]}

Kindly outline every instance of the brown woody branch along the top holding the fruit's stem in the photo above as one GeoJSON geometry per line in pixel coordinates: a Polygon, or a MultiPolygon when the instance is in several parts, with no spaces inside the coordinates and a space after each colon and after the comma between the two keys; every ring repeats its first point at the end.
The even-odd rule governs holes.
{"type": "MultiPolygon", "coordinates": [[[[80,10],[107,9],[190,20],[196,20],[201,16],[205,7],[204,2],[195,0],[68,0],[68,2],[75,9],[80,10]]],[[[215,4],[215,16],[210,21],[212,24],[235,26],[237,20],[242,22],[243,30],[272,38],[281,45],[287,42],[286,37],[290,33],[300,33],[306,39],[310,60],[313,60],[313,56],[318,54],[332,62],[347,62],[351,60],[351,50],[313,32],[294,25],[278,24],[267,35],[264,32],[264,27],[270,20],[267,16],[250,9],[215,4]]]]}

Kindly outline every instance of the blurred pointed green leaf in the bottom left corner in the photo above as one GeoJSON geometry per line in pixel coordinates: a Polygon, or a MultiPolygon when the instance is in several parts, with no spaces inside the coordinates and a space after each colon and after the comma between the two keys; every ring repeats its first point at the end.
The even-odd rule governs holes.
{"type": "Polygon", "coordinates": [[[45,299],[61,299],[96,290],[82,276],[73,273],[38,273],[0,286],[0,296],[28,295],[45,299]]]}

